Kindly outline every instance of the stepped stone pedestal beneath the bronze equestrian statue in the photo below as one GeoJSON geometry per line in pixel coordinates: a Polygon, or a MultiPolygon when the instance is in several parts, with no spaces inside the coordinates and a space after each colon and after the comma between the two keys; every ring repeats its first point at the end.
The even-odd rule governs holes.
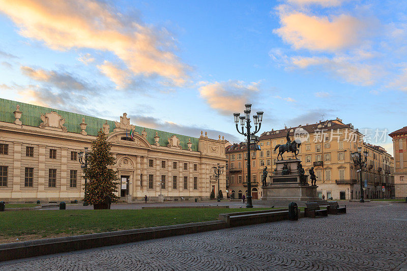
{"type": "Polygon", "coordinates": [[[261,200],[272,202],[289,201],[313,201],[318,200],[317,186],[310,186],[307,182],[301,184],[298,166],[301,161],[281,160],[276,162],[276,170],[270,176],[270,183],[263,186],[263,197],[261,200]]]}

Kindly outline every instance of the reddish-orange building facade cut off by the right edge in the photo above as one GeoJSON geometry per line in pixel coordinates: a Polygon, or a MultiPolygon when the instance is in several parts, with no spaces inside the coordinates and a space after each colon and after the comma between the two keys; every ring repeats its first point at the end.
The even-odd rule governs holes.
{"type": "Polygon", "coordinates": [[[389,136],[393,139],[395,196],[404,198],[407,197],[407,126],[390,133],[389,136]]]}

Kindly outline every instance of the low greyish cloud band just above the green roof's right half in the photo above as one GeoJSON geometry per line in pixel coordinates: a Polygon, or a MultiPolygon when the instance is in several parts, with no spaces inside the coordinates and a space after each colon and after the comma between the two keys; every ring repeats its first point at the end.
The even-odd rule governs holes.
{"type": "Polygon", "coordinates": [[[206,129],[206,128],[198,127],[198,126],[184,126],[184,125],[176,124],[173,122],[161,121],[160,119],[155,118],[155,117],[146,117],[143,115],[129,115],[129,117],[131,118],[132,123],[134,123],[137,126],[141,126],[141,127],[147,127],[147,128],[152,128],[152,129],[157,129],[157,130],[167,131],[170,133],[187,135],[187,136],[192,136],[192,137],[199,137],[200,131],[203,131],[203,132],[208,132],[208,137],[213,138],[213,139],[218,139],[219,135],[220,135],[221,137],[224,136],[225,139],[229,140],[230,142],[242,141],[235,135],[221,132],[218,130],[206,129]]]}

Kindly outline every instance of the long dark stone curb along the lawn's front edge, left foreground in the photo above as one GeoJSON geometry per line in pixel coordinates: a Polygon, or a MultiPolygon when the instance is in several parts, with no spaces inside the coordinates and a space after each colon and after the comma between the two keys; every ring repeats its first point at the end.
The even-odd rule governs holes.
{"type": "Polygon", "coordinates": [[[187,223],[0,244],[0,261],[37,257],[226,228],[224,221],[187,223]]]}

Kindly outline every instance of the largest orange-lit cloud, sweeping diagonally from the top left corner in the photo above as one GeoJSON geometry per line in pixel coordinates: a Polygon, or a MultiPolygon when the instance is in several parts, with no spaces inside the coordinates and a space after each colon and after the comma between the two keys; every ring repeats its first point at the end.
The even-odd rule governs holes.
{"type": "Polygon", "coordinates": [[[111,52],[134,75],[158,75],[177,85],[188,78],[189,67],[171,52],[173,39],[165,28],[136,22],[106,3],[0,0],[0,12],[17,24],[21,36],[43,41],[52,49],[111,52]]]}

